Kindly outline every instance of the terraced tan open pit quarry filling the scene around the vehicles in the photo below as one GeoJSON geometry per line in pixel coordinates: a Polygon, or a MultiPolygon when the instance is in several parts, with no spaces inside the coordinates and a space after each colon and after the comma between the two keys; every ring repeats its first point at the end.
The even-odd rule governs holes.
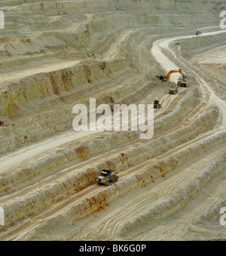
{"type": "Polygon", "coordinates": [[[1,241],[226,240],[224,10],[224,0],[0,1],[1,241]],[[157,80],[173,69],[188,82],[177,94],[179,73],[157,80]],[[112,113],[159,100],[153,137],[75,131],[73,107],[91,98],[112,113]],[[108,168],[118,181],[97,184],[108,168]]]}

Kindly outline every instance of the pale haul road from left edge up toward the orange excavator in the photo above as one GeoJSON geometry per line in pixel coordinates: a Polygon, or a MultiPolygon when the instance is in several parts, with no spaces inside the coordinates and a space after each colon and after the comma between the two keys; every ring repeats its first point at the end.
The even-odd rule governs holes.
{"type": "MultiPolygon", "coordinates": [[[[182,91],[183,90],[184,89],[182,89],[182,91]]],[[[179,94],[164,95],[161,100],[162,107],[155,110],[154,118],[163,115],[166,109],[170,107],[170,104],[173,102],[173,100],[176,99],[176,97],[179,97],[179,94]]],[[[170,128],[164,134],[169,133],[174,129],[175,128],[170,128]]],[[[16,171],[21,167],[30,165],[32,162],[43,159],[44,156],[47,156],[47,154],[50,155],[50,153],[54,153],[57,150],[63,149],[64,147],[68,147],[69,143],[72,143],[76,140],[78,140],[78,142],[82,141],[84,137],[93,138],[94,136],[99,136],[99,134],[101,134],[100,131],[66,131],[62,134],[50,137],[46,140],[32,143],[32,145],[23,147],[15,152],[8,153],[7,155],[1,157],[0,165],[2,167],[2,171],[4,171],[4,173],[16,171]]],[[[136,145],[143,143],[145,143],[145,140],[136,141],[135,143],[129,143],[128,146],[125,146],[124,148],[132,147],[134,144],[136,145]]],[[[113,153],[114,152],[115,150],[113,150],[113,153]]],[[[0,174],[2,171],[0,170],[0,174]]]]}

